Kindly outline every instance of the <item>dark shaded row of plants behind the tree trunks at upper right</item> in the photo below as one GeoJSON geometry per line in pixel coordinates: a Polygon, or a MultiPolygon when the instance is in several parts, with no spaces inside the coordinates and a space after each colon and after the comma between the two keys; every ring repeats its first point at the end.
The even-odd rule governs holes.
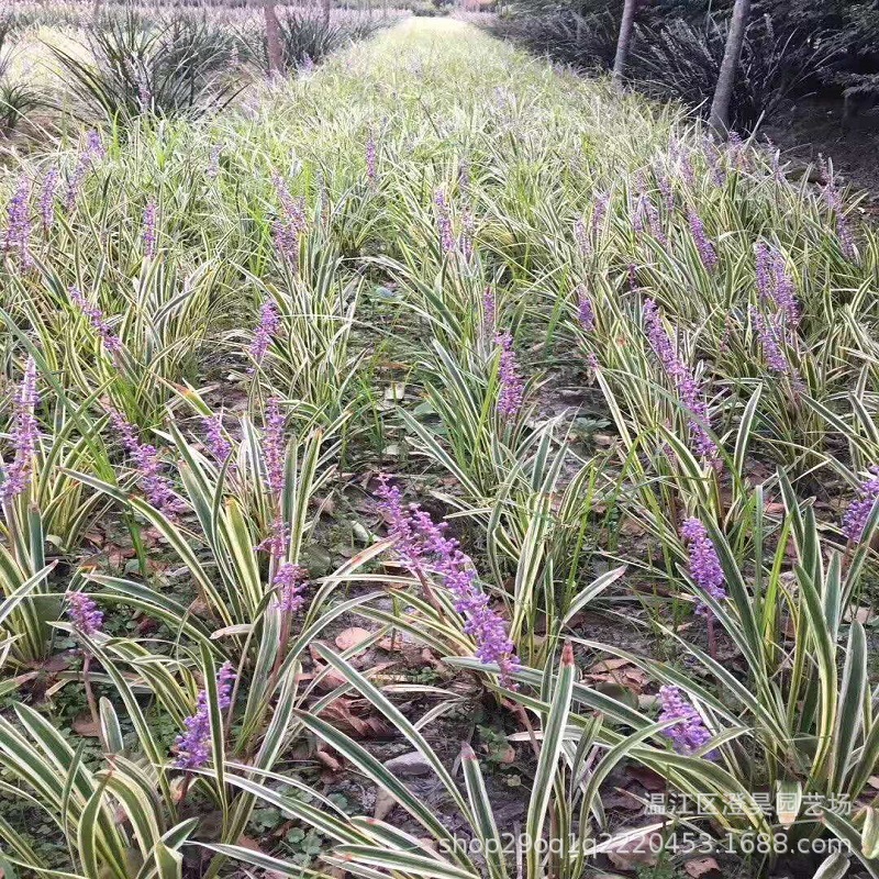
{"type": "MultiPolygon", "coordinates": [[[[489,24],[532,52],[586,69],[614,65],[621,2],[520,0],[489,24]]],[[[731,29],[732,2],[634,0],[626,66],[631,84],[659,99],[682,100],[708,115],[731,29]]],[[[875,102],[879,14],[875,4],[753,2],[733,92],[732,126],[772,124],[791,100],[845,98],[847,114],[875,102]]]]}

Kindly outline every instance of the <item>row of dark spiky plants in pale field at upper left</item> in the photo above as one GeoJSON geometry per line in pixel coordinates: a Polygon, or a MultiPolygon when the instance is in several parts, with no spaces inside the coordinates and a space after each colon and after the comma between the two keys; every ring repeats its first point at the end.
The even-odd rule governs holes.
{"type": "MultiPolygon", "coordinates": [[[[56,76],[41,87],[11,69],[16,54],[34,52],[30,29],[36,22],[20,19],[13,11],[0,24],[0,121],[7,136],[40,111],[56,121],[52,125],[41,120],[40,138],[47,125],[63,125],[71,113],[80,121],[102,118],[125,126],[138,118],[216,112],[270,67],[265,24],[253,14],[236,18],[205,10],[111,5],[99,7],[78,23],[69,41],[48,44],[56,76]]],[[[308,71],[330,53],[394,19],[281,11],[278,34],[283,69],[308,71]]],[[[51,15],[36,21],[57,26],[51,15]]]]}

